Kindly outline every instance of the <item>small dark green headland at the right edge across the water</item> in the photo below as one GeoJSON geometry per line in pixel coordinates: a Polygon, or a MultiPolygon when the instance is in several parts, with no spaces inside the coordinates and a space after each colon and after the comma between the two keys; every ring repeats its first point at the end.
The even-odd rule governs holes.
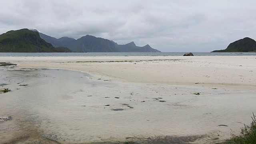
{"type": "Polygon", "coordinates": [[[256,52],[256,41],[246,37],[232,42],[225,50],[214,50],[212,52],[256,52]]]}

